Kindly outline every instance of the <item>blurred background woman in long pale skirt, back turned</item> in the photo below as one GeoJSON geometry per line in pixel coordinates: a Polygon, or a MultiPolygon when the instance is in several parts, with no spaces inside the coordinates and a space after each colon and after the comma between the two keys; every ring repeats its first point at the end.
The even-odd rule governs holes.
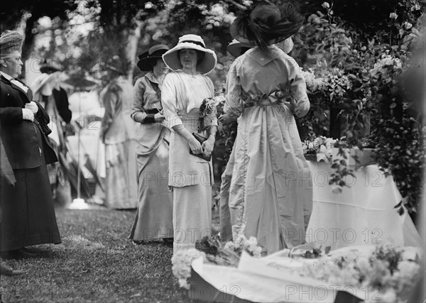
{"type": "Polygon", "coordinates": [[[124,77],[124,71],[112,65],[103,66],[106,69],[104,76],[111,79],[99,94],[105,108],[100,132],[107,165],[105,206],[109,209],[136,209],[136,123],[130,117],[133,87],[124,77]]]}

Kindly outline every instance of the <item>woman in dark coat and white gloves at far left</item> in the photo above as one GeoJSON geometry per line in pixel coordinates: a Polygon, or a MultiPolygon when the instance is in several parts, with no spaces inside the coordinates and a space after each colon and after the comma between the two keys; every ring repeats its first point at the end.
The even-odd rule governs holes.
{"type": "Polygon", "coordinates": [[[56,162],[47,134],[48,115],[32,101],[32,92],[15,79],[21,74],[23,37],[16,31],[0,36],[1,140],[16,178],[1,186],[1,253],[26,254],[26,246],[60,243],[46,163],[56,162]]]}

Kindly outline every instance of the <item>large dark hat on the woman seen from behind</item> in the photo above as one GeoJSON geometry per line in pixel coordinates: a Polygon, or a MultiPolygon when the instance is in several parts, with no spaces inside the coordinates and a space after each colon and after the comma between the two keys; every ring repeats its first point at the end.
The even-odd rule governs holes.
{"type": "Polygon", "coordinates": [[[293,4],[260,4],[244,11],[231,24],[232,38],[242,43],[257,45],[266,50],[268,45],[285,40],[297,33],[303,23],[303,16],[293,4]]]}

